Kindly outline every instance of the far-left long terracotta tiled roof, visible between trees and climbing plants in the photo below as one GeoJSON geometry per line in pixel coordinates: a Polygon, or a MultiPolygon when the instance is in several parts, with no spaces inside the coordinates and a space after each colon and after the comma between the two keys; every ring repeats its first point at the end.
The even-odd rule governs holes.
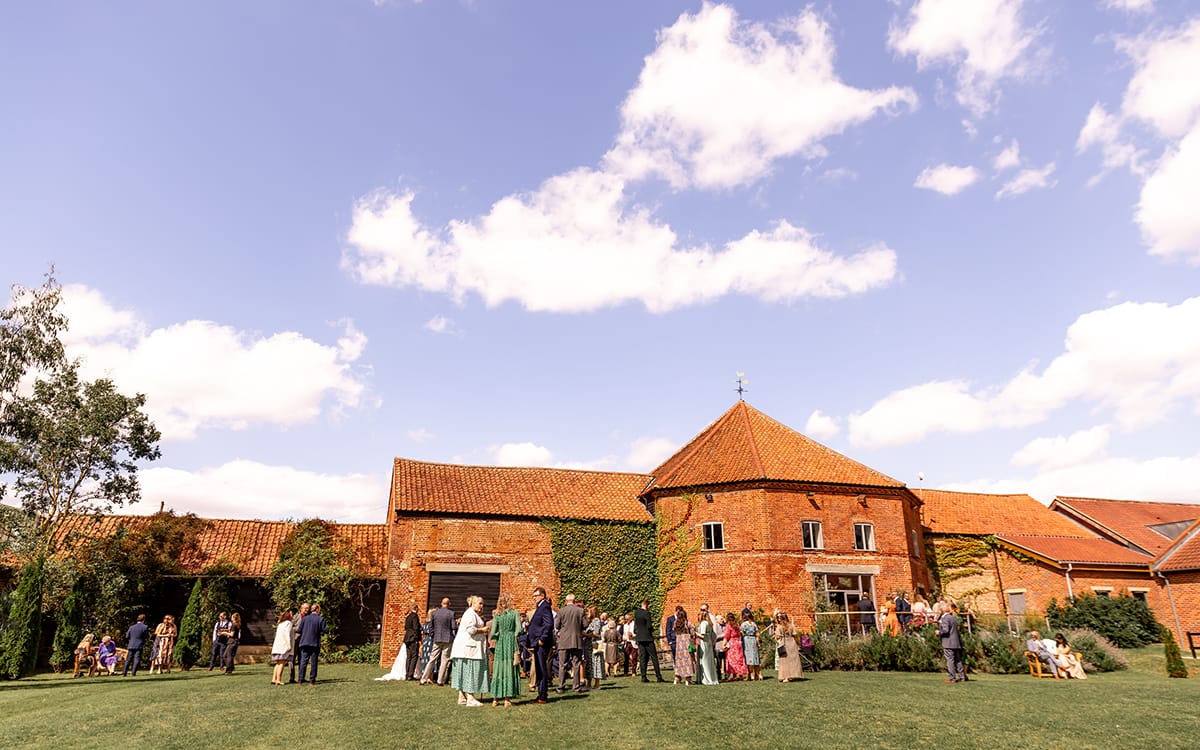
{"type": "MultiPolygon", "coordinates": [[[[121,527],[138,528],[149,523],[149,516],[73,516],[67,518],[60,535],[80,533],[91,536],[115,534],[121,527]]],[[[204,518],[209,527],[200,532],[199,552],[180,560],[184,570],[199,574],[209,565],[224,560],[232,563],[238,575],[262,577],[271,571],[278,559],[280,546],[295,523],[288,521],[239,521],[204,518]]],[[[386,571],[388,527],[382,523],[335,523],[334,534],[346,540],[354,551],[355,572],[364,577],[382,578],[386,571]]]]}

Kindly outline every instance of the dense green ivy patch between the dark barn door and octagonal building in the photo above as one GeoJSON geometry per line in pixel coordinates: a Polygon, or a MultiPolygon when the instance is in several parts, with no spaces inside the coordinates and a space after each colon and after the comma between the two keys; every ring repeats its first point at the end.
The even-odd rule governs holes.
{"type": "Polygon", "coordinates": [[[560,583],[559,598],[575,594],[612,613],[632,612],[642,599],[662,608],[653,523],[545,520],[560,583]]]}

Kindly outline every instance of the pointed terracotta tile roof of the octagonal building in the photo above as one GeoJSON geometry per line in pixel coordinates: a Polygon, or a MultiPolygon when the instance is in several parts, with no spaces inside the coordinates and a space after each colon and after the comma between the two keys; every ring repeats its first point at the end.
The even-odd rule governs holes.
{"type": "Polygon", "coordinates": [[[739,401],[662,466],[650,490],[737,481],[803,481],[904,487],[739,401]]]}

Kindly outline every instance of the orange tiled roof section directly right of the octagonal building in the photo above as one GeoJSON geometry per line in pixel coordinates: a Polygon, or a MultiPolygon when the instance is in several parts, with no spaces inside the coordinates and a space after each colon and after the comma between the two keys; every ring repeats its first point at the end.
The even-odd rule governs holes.
{"type": "Polygon", "coordinates": [[[925,527],[934,534],[1028,534],[1091,536],[1027,494],[984,494],[949,490],[913,490],[924,502],[925,527]]]}

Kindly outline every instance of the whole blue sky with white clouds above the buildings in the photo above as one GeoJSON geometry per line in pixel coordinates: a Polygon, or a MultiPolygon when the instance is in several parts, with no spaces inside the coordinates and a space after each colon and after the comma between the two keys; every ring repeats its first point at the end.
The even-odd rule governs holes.
{"type": "Polygon", "coordinates": [[[1200,502],[1194,4],[581,5],[0,10],[4,276],[149,396],[134,510],[648,472],[737,372],[910,486],[1200,502]]]}

